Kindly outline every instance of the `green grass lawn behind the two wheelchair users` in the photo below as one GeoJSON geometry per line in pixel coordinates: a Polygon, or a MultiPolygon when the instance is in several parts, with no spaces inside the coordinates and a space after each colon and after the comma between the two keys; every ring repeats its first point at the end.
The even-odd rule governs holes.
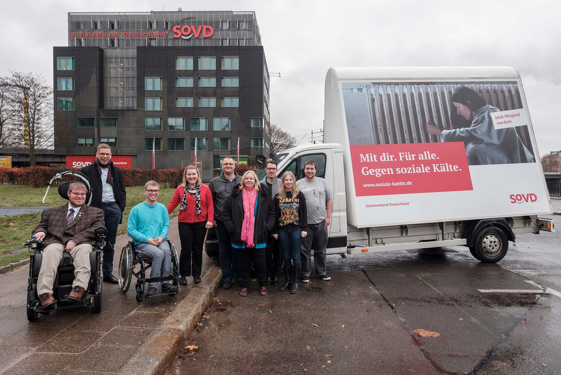
{"type": "MultiPolygon", "coordinates": [[[[13,206],[57,206],[65,204],[67,201],[62,199],[57,192],[56,186],[49,190],[49,195],[42,202],[45,195],[46,187],[34,188],[21,185],[2,185],[3,199],[0,207],[13,206]]],[[[167,205],[172,199],[175,189],[162,189],[158,202],[167,205]]],[[[127,231],[128,213],[136,204],[143,202],[144,186],[127,187],[127,206],[123,212],[123,224],[119,225],[118,234],[124,234],[127,231]]],[[[174,213],[177,213],[177,209],[174,213]]],[[[0,217],[0,254],[10,253],[13,250],[21,249],[24,242],[31,236],[31,231],[39,223],[40,213],[28,213],[19,216],[0,217]]],[[[18,262],[19,260],[29,257],[28,253],[10,255],[0,258],[0,266],[18,262]]]]}

